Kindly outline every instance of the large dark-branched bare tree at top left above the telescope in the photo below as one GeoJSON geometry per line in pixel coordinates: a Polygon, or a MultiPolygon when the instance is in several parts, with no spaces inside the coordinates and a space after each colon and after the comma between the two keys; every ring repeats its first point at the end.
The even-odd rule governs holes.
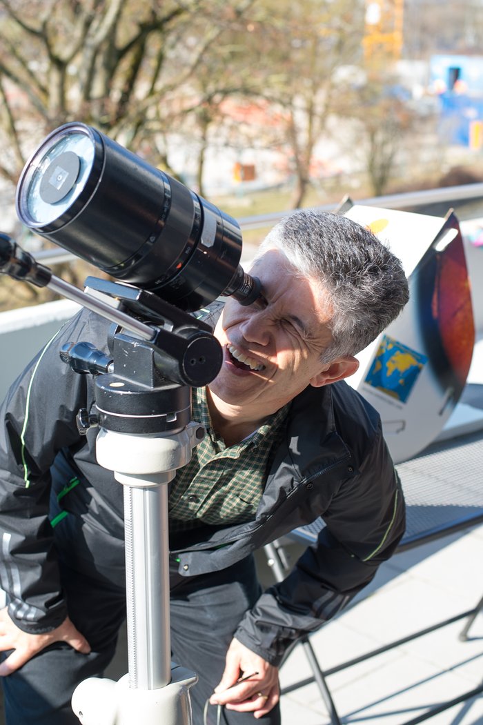
{"type": "Polygon", "coordinates": [[[214,21],[246,6],[247,0],[0,0],[0,143],[8,149],[0,175],[15,183],[33,143],[70,120],[142,150],[153,127],[167,130],[173,99],[183,96],[220,35],[223,25],[214,21]]]}

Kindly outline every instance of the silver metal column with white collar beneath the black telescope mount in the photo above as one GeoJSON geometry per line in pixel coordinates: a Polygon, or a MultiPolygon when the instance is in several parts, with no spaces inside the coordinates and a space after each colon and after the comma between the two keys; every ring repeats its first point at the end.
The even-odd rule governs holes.
{"type": "Polygon", "coordinates": [[[168,435],[102,428],[100,465],[124,486],[129,687],[154,690],[171,682],[168,484],[205,434],[190,422],[168,435]]]}

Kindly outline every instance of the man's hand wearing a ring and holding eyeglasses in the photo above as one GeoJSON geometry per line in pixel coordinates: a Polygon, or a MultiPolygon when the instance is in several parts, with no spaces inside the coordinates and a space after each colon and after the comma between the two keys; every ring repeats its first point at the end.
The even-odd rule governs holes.
{"type": "Polygon", "coordinates": [[[279,698],[278,668],[232,639],[226,653],[225,671],[210,703],[225,705],[227,710],[239,713],[253,712],[255,718],[261,718],[275,707],[279,698]],[[256,674],[249,676],[252,673],[256,674]],[[238,682],[247,676],[244,682],[238,682]]]}

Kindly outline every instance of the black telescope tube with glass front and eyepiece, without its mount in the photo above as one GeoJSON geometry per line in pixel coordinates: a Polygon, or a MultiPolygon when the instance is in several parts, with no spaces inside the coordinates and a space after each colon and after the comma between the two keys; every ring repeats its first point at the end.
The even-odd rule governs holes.
{"type": "Polygon", "coordinates": [[[236,220],[83,123],[47,136],[17,185],[26,226],[112,277],[192,312],[220,294],[250,305],[236,220]]]}

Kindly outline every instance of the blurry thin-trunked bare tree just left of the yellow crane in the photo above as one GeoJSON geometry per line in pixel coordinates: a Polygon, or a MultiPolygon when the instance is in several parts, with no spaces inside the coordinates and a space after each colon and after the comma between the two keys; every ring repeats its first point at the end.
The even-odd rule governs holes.
{"type": "Polygon", "coordinates": [[[259,97],[277,114],[271,143],[286,154],[295,180],[292,206],[299,207],[315,145],[345,93],[338,71],[360,61],[363,2],[268,0],[265,7],[271,12],[251,34],[248,52],[259,97]]]}

